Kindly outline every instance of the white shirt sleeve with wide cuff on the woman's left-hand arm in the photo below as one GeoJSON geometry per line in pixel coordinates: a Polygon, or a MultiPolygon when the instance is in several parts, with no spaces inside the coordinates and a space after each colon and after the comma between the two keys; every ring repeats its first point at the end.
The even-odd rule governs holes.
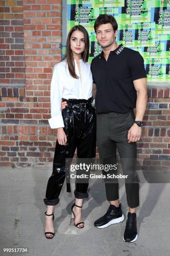
{"type": "Polygon", "coordinates": [[[59,65],[55,65],[52,72],[51,88],[50,88],[50,102],[51,102],[51,118],[48,119],[52,129],[64,127],[64,122],[61,113],[62,101],[62,83],[61,70],[59,65]]]}

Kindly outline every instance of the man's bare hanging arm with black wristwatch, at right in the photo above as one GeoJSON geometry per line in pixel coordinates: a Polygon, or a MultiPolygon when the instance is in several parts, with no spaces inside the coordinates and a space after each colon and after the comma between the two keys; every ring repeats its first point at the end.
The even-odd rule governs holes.
{"type": "MultiPolygon", "coordinates": [[[[135,90],[137,92],[136,100],[136,121],[142,121],[147,107],[147,83],[146,78],[140,78],[133,81],[135,90]]],[[[128,131],[128,143],[136,142],[140,140],[141,136],[141,127],[137,124],[133,124],[128,131]]]]}

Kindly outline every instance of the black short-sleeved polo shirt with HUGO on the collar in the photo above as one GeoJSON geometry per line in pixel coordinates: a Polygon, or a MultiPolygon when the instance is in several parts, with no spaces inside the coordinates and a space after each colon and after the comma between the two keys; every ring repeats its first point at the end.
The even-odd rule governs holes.
{"type": "Polygon", "coordinates": [[[97,87],[97,113],[126,113],[136,107],[133,80],[147,77],[143,57],[138,51],[120,44],[110,51],[107,61],[102,51],[92,59],[91,72],[97,87]]]}

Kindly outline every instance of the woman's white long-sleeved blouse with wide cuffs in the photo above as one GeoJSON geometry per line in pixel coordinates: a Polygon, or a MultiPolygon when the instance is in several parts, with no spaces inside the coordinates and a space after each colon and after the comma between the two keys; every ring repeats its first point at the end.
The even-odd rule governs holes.
{"type": "Polygon", "coordinates": [[[80,59],[80,73],[75,62],[75,73],[80,77],[75,79],[70,75],[66,59],[55,64],[52,72],[50,101],[51,118],[48,119],[50,127],[64,127],[61,112],[61,101],[65,99],[85,99],[92,97],[92,73],[90,64],[80,59]]]}

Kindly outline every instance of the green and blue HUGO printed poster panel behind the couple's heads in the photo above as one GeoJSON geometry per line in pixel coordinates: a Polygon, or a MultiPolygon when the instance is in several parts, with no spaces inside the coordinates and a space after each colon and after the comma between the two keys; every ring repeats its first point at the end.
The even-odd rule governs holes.
{"type": "MultiPolygon", "coordinates": [[[[67,34],[84,26],[90,38],[89,63],[100,54],[94,31],[100,14],[113,15],[119,33],[117,44],[139,51],[144,58],[148,82],[170,78],[170,0],[67,0],[67,34]]],[[[62,49],[65,55],[65,46],[62,49]]]]}

